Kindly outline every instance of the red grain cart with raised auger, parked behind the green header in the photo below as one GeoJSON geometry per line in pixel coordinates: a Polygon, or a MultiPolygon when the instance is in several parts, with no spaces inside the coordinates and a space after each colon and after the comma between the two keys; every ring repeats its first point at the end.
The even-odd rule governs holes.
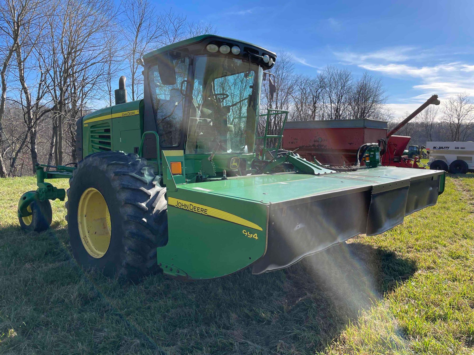
{"type": "Polygon", "coordinates": [[[283,148],[298,149],[298,154],[306,160],[317,159],[321,164],[340,166],[353,164],[362,144],[378,142],[382,165],[424,169],[420,157],[410,159],[403,155],[410,137],[393,134],[430,104],[439,105],[438,95],[429,98],[388,133],[386,121],[371,119],[287,122],[283,148]]]}

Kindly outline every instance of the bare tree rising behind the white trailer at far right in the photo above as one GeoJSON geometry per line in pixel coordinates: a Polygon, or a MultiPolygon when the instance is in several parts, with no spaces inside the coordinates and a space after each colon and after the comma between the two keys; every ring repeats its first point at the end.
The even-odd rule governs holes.
{"type": "Polygon", "coordinates": [[[474,105],[465,92],[457,94],[443,103],[443,121],[451,133],[451,141],[465,141],[474,127],[474,105]]]}

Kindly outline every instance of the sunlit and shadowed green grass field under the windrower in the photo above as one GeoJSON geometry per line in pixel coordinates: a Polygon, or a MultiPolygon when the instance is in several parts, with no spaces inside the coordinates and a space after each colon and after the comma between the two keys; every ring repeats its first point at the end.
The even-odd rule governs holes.
{"type": "Polygon", "coordinates": [[[391,231],[282,271],[137,285],[77,266],[64,202],[50,231],[21,231],[35,179],[1,179],[0,354],[473,354],[473,177],[448,177],[436,206],[391,231]]]}

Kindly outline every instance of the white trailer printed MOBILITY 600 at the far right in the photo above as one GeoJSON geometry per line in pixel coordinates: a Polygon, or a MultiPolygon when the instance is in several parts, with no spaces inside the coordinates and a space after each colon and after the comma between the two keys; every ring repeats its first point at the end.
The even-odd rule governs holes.
{"type": "Polygon", "coordinates": [[[474,142],[427,142],[429,169],[453,174],[474,171],[474,142]]]}

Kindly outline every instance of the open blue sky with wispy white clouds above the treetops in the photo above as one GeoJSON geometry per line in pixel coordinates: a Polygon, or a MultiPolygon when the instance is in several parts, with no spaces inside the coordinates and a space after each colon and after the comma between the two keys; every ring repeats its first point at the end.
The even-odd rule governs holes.
{"type": "Polygon", "coordinates": [[[397,116],[432,94],[474,96],[474,1],[166,1],[219,35],[291,53],[295,72],[328,64],[381,77],[397,116]]]}

